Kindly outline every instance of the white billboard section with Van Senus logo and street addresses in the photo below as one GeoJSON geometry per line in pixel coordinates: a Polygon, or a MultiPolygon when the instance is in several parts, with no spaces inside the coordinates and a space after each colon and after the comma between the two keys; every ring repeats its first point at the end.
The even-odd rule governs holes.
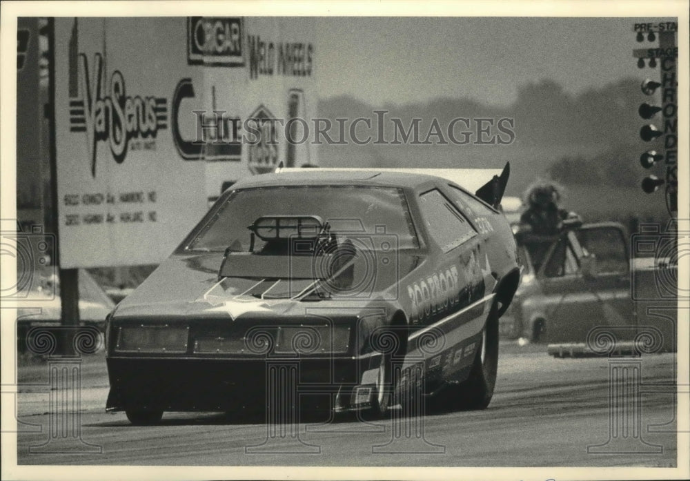
{"type": "Polygon", "coordinates": [[[175,88],[194,74],[183,22],[55,20],[62,268],[155,264],[204,213],[204,165],[170,132],[175,88]]]}

